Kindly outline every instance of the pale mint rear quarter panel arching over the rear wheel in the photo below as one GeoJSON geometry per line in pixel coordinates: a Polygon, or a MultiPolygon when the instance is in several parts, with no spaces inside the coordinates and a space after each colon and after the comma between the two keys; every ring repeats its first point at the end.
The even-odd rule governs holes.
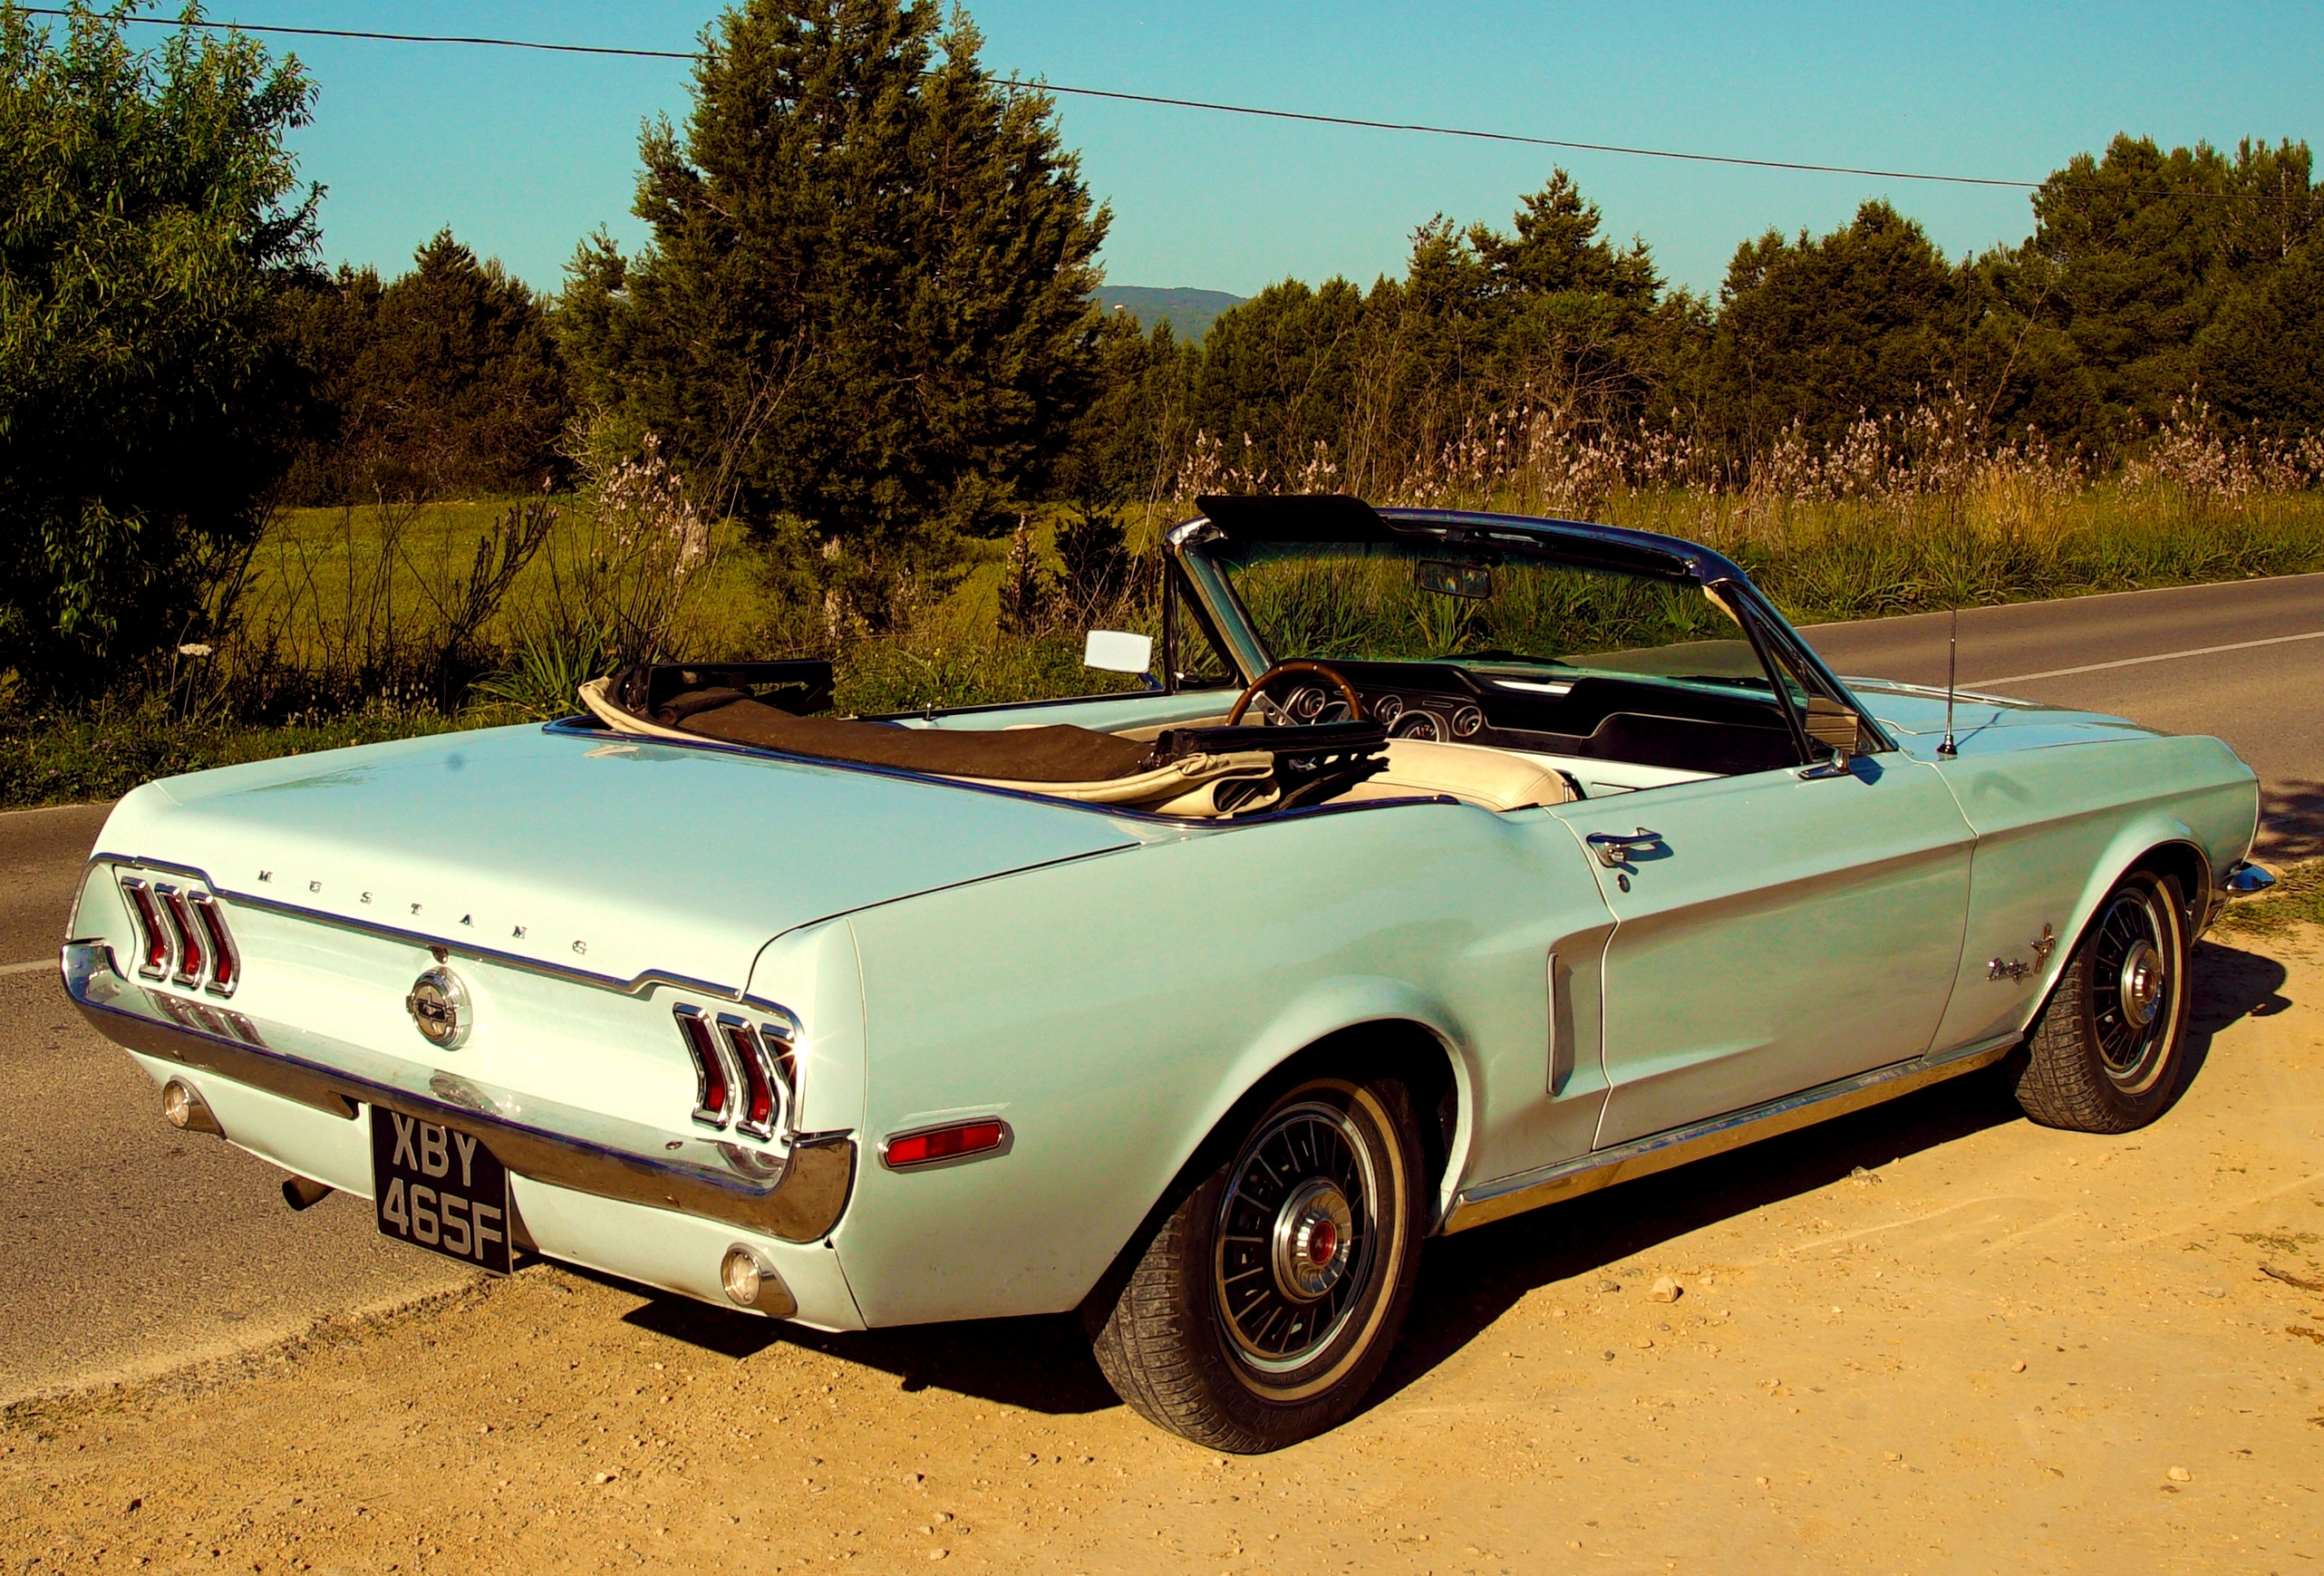
{"type": "MultiPolygon", "coordinates": [[[[1074,1306],[1234,1102],[1348,1025],[1457,1067],[1448,1190],[1587,1153],[1594,1002],[1562,1093],[1548,958],[1604,941],[1573,839],[1534,811],[1383,804],[1192,834],[853,916],[865,1165],[834,1239],[867,1323],[1074,1306]],[[999,1116],[1006,1153],[892,1174],[883,1134],[999,1116]]],[[[1594,960],[1587,962],[1594,967],[1594,960]]]]}

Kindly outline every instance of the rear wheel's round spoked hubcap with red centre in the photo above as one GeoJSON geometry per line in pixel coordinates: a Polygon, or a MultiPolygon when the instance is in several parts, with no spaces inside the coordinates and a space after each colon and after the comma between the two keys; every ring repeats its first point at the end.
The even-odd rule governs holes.
{"type": "Polygon", "coordinates": [[[1369,1281],[1378,1176],[1355,1120],[1322,1102],[1278,1111],[1246,1146],[1218,1211],[1218,1316],[1264,1374],[1311,1362],[1369,1281]]]}

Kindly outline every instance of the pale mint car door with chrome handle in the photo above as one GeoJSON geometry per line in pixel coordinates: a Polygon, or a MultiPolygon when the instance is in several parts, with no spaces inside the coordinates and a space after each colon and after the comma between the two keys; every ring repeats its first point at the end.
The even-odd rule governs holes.
{"type": "Polygon", "coordinates": [[[1882,751],[1550,814],[1615,914],[1601,1148],[1929,1048],[1973,841],[1934,767],[1882,751]]]}

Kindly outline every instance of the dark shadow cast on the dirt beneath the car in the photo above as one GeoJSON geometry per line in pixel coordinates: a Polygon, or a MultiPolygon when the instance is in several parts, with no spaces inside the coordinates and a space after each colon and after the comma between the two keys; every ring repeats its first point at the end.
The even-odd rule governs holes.
{"type": "MultiPolygon", "coordinates": [[[[2201,1072],[2219,1030],[2245,1016],[2271,1016],[2289,1007],[2280,995],[2284,979],[2273,958],[2219,941],[2199,946],[2189,1079],[2201,1072]]],[[[2024,1113],[2010,1095],[2008,1069],[1994,1067],[1555,1209],[1439,1237],[1422,1253],[1420,1290],[1404,1341],[1367,1409],[1457,1355],[1532,1290],[1585,1276],[1594,1281],[1606,1265],[1815,1192],[1857,1167],[1878,1172],[1903,1155],[2015,1120],[2024,1120],[2024,1113]]],[[[1643,1295],[1643,1285],[1629,1290],[1643,1295]]],[[[1090,1357],[1081,1320],[1069,1313],[825,1334],[725,1313],[686,1297],[655,1297],[625,1318],[639,1330],[727,1357],[786,1341],[892,1374],[899,1390],[953,1390],[1046,1416],[1120,1406],[1090,1357]]]]}

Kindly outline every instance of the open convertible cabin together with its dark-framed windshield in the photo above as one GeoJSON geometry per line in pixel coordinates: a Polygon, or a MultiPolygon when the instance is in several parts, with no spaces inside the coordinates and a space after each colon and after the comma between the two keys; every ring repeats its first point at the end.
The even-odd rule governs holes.
{"type": "Polygon", "coordinates": [[[1494,516],[1390,521],[1348,497],[1202,502],[1208,537],[1167,572],[1167,681],[1146,637],[1090,635],[1088,660],[1146,676],[1143,693],[832,718],[818,716],[830,662],[799,660],[632,665],[581,697],[625,735],[1197,818],[1411,797],[1515,811],[1769,772],[1829,744],[1817,709],[1855,737],[1785,635],[1745,623],[1734,586],[1697,583],[1659,544],[1559,544],[1494,516]],[[1246,646],[1301,656],[1236,686],[1218,676],[1236,669],[1220,618],[1246,646]],[[1122,649],[1127,662],[1099,656],[1122,649]],[[1188,716],[1190,690],[1218,709],[1188,716]],[[1120,723],[1083,725],[1097,702],[1120,723]]]}

